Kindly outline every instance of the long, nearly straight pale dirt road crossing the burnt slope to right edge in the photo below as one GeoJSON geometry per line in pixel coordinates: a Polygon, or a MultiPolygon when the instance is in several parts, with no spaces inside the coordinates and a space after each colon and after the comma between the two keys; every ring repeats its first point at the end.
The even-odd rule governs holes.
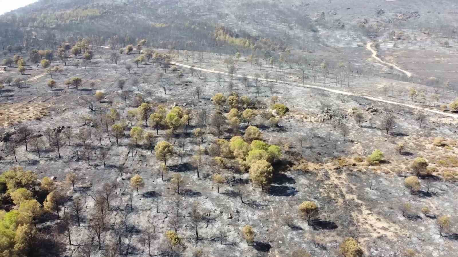
{"type": "MultiPolygon", "coordinates": [[[[370,45],[369,45],[369,47],[370,47],[370,45]]],[[[191,68],[190,65],[180,64],[180,63],[177,63],[177,62],[170,62],[170,64],[174,64],[174,65],[185,67],[185,68],[191,68]]],[[[202,69],[202,68],[197,68],[197,67],[194,67],[194,69],[202,70],[202,71],[205,71],[205,72],[219,73],[219,74],[230,76],[229,73],[226,73],[226,72],[223,72],[223,71],[208,70],[208,69],[202,69]]],[[[240,77],[240,78],[246,77],[246,78],[249,78],[249,79],[254,79],[254,77],[251,77],[251,76],[243,76],[243,75],[236,75],[236,74],[234,74],[233,76],[234,77],[240,77]]],[[[266,81],[266,79],[264,79],[264,78],[258,78],[258,80],[266,81]]],[[[275,80],[267,80],[267,81],[273,82],[273,83],[278,83],[275,80]]],[[[292,82],[288,82],[288,83],[286,83],[286,85],[287,86],[288,85],[294,85],[294,86],[301,86],[301,87],[303,86],[302,84],[292,83],[292,82]]],[[[448,116],[448,117],[452,117],[452,118],[458,118],[458,114],[454,114],[454,113],[441,112],[441,111],[428,109],[428,108],[424,108],[424,107],[420,107],[420,106],[414,106],[414,105],[400,103],[400,102],[388,101],[388,100],[384,100],[384,99],[380,99],[380,98],[376,98],[376,97],[372,97],[372,96],[362,96],[362,95],[351,93],[351,92],[340,91],[340,90],[330,89],[330,88],[321,87],[321,86],[312,86],[312,85],[307,85],[307,84],[305,84],[304,86],[308,87],[308,88],[320,89],[320,90],[324,90],[324,91],[328,91],[328,92],[332,92],[332,93],[336,93],[336,94],[342,94],[342,95],[346,95],[346,96],[359,96],[359,97],[362,97],[362,98],[365,98],[365,99],[368,99],[368,100],[372,100],[372,101],[376,101],[376,102],[385,102],[385,103],[389,103],[389,104],[395,104],[395,105],[398,105],[398,106],[403,106],[403,107],[409,107],[409,108],[413,108],[413,109],[417,109],[417,110],[422,110],[422,111],[425,111],[425,112],[433,112],[433,113],[436,113],[436,114],[440,114],[440,115],[448,116]]]]}

